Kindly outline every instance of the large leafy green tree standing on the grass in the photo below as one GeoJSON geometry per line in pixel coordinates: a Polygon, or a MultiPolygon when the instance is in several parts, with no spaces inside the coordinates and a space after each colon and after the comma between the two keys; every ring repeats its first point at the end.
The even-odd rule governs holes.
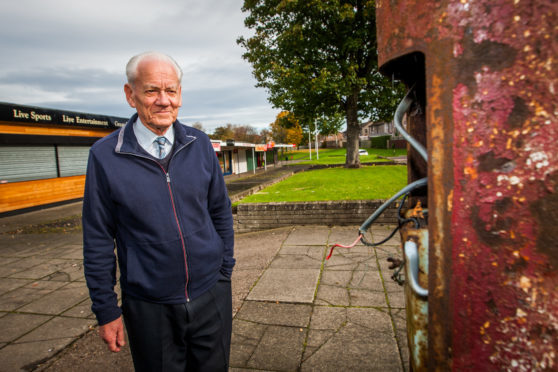
{"type": "Polygon", "coordinates": [[[245,0],[255,34],[246,49],[258,87],[303,127],[342,114],[347,167],[360,166],[359,118],[391,119],[402,89],[377,71],[375,3],[370,0],[245,0]]]}

